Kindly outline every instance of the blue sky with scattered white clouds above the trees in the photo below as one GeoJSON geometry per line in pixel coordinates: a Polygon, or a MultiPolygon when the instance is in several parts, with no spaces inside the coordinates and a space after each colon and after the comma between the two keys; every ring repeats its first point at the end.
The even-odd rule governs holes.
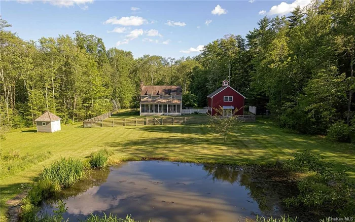
{"type": "Polygon", "coordinates": [[[79,30],[102,38],[107,48],[179,58],[233,33],[245,36],[263,16],[287,15],[295,1],[2,1],[1,15],[24,40],[79,30]]]}

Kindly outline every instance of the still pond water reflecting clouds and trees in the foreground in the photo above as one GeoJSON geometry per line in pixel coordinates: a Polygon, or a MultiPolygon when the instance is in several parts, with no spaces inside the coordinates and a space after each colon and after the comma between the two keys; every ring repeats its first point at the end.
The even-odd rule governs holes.
{"type": "MultiPolygon", "coordinates": [[[[77,221],[105,212],[141,221],[243,221],[288,213],[280,204],[286,190],[290,184],[275,181],[275,175],[237,166],[125,162],[63,191],[63,217],[77,221]]],[[[40,214],[55,206],[45,203],[40,214]]]]}

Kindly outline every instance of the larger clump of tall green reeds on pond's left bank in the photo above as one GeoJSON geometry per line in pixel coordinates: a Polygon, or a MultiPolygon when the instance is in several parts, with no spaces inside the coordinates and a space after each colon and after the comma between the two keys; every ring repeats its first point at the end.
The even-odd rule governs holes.
{"type": "Polygon", "coordinates": [[[51,180],[66,188],[86,178],[88,166],[79,159],[61,158],[45,167],[40,178],[51,180]]]}

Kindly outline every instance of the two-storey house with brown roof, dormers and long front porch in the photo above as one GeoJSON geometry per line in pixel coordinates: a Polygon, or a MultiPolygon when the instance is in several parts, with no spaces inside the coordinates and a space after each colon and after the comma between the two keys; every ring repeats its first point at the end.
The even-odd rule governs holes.
{"type": "Polygon", "coordinates": [[[181,86],[144,86],[140,83],[140,116],[181,116],[181,86]]]}

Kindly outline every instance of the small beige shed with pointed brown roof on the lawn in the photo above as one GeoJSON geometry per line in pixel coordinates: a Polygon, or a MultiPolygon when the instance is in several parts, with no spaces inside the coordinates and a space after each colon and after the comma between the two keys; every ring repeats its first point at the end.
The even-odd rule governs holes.
{"type": "Polygon", "coordinates": [[[47,111],[35,120],[37,132],[53,133],[60,130],[60,118],[47,111]]]}

